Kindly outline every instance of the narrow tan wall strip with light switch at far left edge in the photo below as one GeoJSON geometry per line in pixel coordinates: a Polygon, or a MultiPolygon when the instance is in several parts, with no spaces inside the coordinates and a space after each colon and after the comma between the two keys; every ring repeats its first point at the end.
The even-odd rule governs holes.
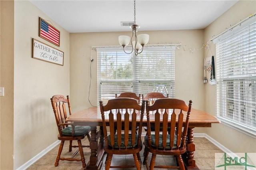
{"type": "Polygon", "coordinates": [[[4,87],[4,97],[0,97],[0,169],[13,169],[14,153],[14,2],[0,1],[1,4],[1,53],[0,87],[4,87]]]}

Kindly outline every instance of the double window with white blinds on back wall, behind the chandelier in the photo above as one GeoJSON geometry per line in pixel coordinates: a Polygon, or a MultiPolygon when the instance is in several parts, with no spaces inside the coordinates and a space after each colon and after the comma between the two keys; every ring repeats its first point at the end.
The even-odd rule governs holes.
{"type": "Polygon", "coordinates": [[[160,92],[174,97],[174,49],[150,47],[135,56],[116,47],[97,48],[98,100],[106,104],[123,92],[160,92]]]}

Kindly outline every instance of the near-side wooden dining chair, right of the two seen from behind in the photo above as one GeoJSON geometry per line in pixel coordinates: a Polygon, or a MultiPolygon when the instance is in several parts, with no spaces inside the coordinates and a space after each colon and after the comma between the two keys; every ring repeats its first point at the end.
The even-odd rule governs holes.
{"type": "Polygon", "coordinates": [[[185,170],[181,154],[186,152],[186,136],[191,108],[192,100],[189,101],[188,106],[180,99],[158,99],[153,105],[150,105],[148,100],[146,101],[148,134],[144,137],[146,154],[143,164],[146,164],[147,169],[180,168],[181,170],[185,170]],[[154,116],[155,119],[154,134],[151,134],[150,130],[150,116],[154,116]],[[185,122],[183,120],[184,116],[186,116],[185,122]],[[178,119],[178,123],[176,123],[176,119],[178,119]],[[160,132],[161,126],[164,127],[162,128],[162,132],[160,132]],[[168,128],[170,128],[170,134],[167,133],[168,128]],[[149,152],[152,153],[150,166],[148,166],[147,162],[149,152]],[[174,155],[178,162],[177,166],[155,166],[157,154],[174,155]]]}

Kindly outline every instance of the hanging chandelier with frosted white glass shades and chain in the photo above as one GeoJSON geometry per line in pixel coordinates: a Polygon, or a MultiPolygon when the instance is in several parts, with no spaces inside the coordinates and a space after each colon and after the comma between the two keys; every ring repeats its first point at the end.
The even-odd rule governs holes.
{"type": "MultiPolygon", "coordinates": [[[[148,43],[149,35],[148,34],[139,34],[137,36],[138,28],[140,28],[139,25],[136,25],[136,8],[135,8],[135,0],[134,0],[134,25],[130,26],[132,28],[132,38],[129,36],[119,36],[118,41],[120,45],[122,45],[123,50],[124,47],[126,47],[130,42],[132,44],[132,53],[134,51],[135,55],[137,56],[139,53],[142,53],[144,45],[148,43]],[[133,39],[134,36],[134,39],[133,39]]],[[[127,53],[125,50],[124,52],[127,53]]]]}

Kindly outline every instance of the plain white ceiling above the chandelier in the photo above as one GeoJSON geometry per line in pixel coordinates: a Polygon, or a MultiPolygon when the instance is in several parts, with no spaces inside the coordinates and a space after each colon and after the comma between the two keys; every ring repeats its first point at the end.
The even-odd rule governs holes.
{"type": "MultiPolygon", "coordinates": [[[[204,29],[237,1],[136,0],[136,24],[139,31],[204,29]]],[[[120,22],[134,21],[133,0],[30,2],[70,33],[131,31],[120,22]]]]}

